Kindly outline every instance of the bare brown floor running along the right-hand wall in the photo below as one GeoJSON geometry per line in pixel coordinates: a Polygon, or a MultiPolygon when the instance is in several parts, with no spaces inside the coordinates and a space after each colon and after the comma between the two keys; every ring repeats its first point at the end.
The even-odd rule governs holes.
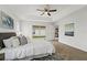
{"type": "Polygon", "coordinates": [[[54,41],[55,54],[61,55],[65,61],[87,61],[87,52],[68,46],[66,44],[54,41]]]}

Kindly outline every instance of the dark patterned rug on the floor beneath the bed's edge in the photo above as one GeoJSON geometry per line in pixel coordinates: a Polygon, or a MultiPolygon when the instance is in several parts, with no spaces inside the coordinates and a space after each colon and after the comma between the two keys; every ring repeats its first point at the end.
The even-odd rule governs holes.
{"type": "MultiPolygon", "coordinates": [[[[30,61],[30,58],[25,57],[22,59],[14,59],[14,61],[30,61]]],[[[64,58],[62,58],[61,56],[56,56],[56,55],[48,55],[48,56],[44,56],[40,58],[33,58],[31,61],[64,61],[64,58]]]]}

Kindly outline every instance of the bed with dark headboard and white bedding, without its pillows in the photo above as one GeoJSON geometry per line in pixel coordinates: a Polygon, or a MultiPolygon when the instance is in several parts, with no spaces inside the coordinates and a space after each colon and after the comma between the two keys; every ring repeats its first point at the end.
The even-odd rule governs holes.
{"type": "Polygon", "coordinates": [[[43,57],[46,55],[52,55],[52,53],[55,53],[55,48],[53,44],[47,41],[32,42],[25,45],[20,45],[18,47],[7,48],[3,44],[3,40],[15,35],[17,34],[14,32],[0,33],[0,46],[1,46],[0,53],[4,53],[6,61],[11,61],[17,58],[20,59],[24,57],[29,57],[30,59],[32,59],[32,58],[43,57]]]}

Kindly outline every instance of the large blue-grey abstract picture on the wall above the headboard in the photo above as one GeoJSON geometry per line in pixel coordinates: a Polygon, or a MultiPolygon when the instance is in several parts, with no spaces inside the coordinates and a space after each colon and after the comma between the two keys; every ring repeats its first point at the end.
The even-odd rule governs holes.
{"type": "Polygon", "coordinates": [[[0,28],[14,29],[13,19],[2,11],[0,13],[0,28]]]}

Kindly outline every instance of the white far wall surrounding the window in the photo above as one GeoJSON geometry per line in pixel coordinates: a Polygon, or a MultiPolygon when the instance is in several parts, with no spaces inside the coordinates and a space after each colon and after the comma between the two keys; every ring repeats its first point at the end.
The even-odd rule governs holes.
{"type": "Polygon", "coordinates": [[[47,22],[25,22],[21,21],[20,26],[21,26],[21,32],[22,34],[30,36],[32,39],[32,25],[44,25],[46,26],[46,39],[47,40],[53,40],[54,39],[54,25],[52,23],[47,22]]]}

